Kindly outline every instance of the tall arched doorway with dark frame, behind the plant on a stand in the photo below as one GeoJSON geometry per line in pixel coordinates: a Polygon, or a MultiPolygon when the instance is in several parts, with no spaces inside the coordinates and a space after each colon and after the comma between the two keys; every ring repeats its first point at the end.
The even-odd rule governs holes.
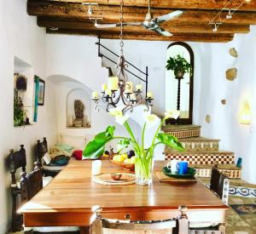
{"type": "MultiPolygon", "coordinates": [[[[194,52],[187,43],[176,42],[168,46],[166,60],[180,54],[189,61],[192,71],[185,73],[180,80],[180,117],[178,120],[168,119],[167,124],[192,124],[193,116],[193,81],[194,81],[194,52]]],[[[166,110],[177,110],[178,80],[173,71],[166,70],[166,110]]]]}

